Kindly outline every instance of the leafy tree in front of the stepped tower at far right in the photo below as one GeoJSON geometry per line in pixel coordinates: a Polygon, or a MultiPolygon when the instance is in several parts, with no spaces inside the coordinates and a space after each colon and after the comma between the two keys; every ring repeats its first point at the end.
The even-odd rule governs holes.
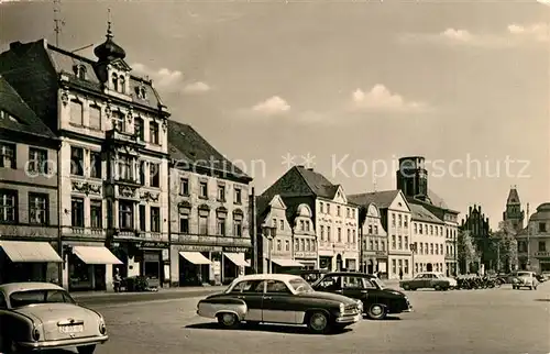
{"type": "Polygon", "coordinates": [[[493,253],[495,255],[495,266],[499,269],[510,272],[517,268],[517,240],[516,230],[507,221],[498,223],[498,231],[491,235],[493,253]]]}

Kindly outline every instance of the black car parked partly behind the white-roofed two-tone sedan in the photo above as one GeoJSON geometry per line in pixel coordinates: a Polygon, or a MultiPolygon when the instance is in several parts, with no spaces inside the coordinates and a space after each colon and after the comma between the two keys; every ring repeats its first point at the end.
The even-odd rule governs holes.
{"type": "Polygon", "coordinates": [[[317,280],[317,291],[334,292],[363,301],[363,312],[373,320],[413,311],[405,294],[386,288],[376,276],[364,273],[328,273],[317,280]]]}

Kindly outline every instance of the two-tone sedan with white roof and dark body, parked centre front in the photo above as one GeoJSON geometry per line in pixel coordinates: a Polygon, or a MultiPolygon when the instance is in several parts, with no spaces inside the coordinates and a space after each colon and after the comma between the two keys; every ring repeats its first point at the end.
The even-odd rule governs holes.
{"type": "Polygon", "coordinates": [[[306,324],[314,333],[341,330],[361,318],[361,303],[341,295],[315,291],[299,276],[245,275],[226,291],[200,300],[197,314],[216,318],[222,328],[246,323],[306,324]]]}

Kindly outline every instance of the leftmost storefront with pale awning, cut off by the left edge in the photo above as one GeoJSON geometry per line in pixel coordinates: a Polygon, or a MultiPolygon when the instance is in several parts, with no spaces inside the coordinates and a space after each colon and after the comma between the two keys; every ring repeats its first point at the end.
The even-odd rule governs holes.
{"type": "Polygon", "coordinates": [[[0,284],[18,281],[58,281],[62,257],[54,243],[0,241],[0,284]]]}

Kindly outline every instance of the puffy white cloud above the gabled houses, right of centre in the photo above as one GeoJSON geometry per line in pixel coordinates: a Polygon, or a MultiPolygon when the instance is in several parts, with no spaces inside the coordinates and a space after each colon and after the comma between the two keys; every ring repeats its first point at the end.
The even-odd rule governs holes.
{"type": "Polygon", "coordinates": [[[371,90],[356,89],[352,93],[351,110],[362,112],[414,113],[430,110],[425,102],[407,101],[400,95],[391,92],[384,85],[375,85],[371,90]]]}

